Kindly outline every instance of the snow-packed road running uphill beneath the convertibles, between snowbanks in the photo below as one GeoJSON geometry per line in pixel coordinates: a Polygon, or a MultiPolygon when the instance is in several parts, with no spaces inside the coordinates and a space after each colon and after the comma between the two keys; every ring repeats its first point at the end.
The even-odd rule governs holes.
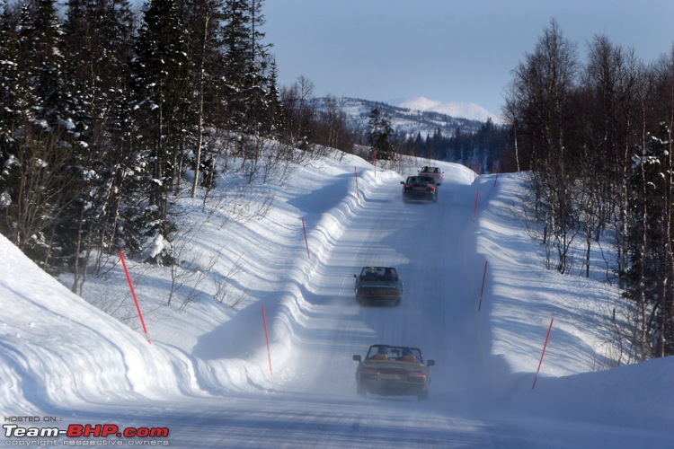
{"type": "MultiPolygon", "coordinates": [[[[168,409],[165,404],[148,409],[145,403],[130,416],[120,410],[120,423],[169,427],[171,445],[179,446],[198,439],[200,447],[448,447],[494,441],[522,447],[511,423],[475,418],[490,408],[483,398],[493,397],[485,392],[500,368],[484,356],[489,335],[480,333],[478,323],[483,261],[475,254],[474,189],[451,180],[440,189],[437,204],[404,204],[400,184],[387,180],[360,201],[302,289],[306,320],[292,336],[298,348],[292,363],[274,373],[286,380],[281,387],[182,401],[168,409]],[[353,274],[367,265],[398,269],[405,282],[402,305],[356,304],[353,274]],[[427,401],[356,396],[351,356],[374,343],[419,347],[436,360],[427,401]]],[[[116,414],[102,415],[110,420],[111,413],[116,414]]]]}

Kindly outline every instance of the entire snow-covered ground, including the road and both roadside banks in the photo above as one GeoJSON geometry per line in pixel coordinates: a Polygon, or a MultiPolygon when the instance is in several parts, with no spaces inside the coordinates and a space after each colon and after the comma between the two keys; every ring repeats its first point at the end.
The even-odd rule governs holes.
{"type": "Polygon", "coordinates": [[[127,260],[147,335],[117,258],[87,302],[0,237],[4,445],[674,446],[674,359],[607,369],[619,292],[600,269],[545,270],[516,212],[523,176],[433,161],[438,203],[404,204],[427,162],[331,154],[282,184],[230,176],[206,203],[180,198],[194,276],[171,304],[170,270],[127,260]],[[369,265],[398,269],[400,306],[356,303],[369,265]],[[436,360],[427,401],[356,395],[351,357],[375,343],[436,360]]]}

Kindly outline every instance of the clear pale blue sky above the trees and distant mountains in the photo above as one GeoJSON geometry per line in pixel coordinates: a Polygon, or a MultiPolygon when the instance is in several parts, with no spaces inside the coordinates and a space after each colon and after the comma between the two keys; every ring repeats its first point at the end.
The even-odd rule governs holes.
{"type": "Polygon", "coordinates": [[[423,96],[493,113],[552,19],[581,60],[597,35],[644,62],[674,44],[672,0],[266,0],[262,13],[282,85],[304,75],[315,96],[423,96]]]}

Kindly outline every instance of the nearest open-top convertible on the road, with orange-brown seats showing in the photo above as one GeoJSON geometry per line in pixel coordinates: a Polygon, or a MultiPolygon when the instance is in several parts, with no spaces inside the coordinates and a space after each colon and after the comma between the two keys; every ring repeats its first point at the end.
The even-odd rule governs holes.
{"type": "Polygon", "coordinates": [[[357,362],[356,383],[359,396],[368,392],[381,395],[416,395],[425,400],[429,394],[430,369],[434,360],[424,361],[420,348],[372,345],[365,359],[357,362]]]}

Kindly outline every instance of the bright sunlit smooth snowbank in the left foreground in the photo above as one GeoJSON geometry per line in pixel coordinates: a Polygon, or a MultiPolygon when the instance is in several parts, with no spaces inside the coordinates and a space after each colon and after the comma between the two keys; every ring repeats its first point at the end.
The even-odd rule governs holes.
{"type": "Polygon", "coordinates": [[[101,401],[198,392],[183,354],[71,293],[0,235],[0,405],[5,414],[53,413],[101,401]]]}

